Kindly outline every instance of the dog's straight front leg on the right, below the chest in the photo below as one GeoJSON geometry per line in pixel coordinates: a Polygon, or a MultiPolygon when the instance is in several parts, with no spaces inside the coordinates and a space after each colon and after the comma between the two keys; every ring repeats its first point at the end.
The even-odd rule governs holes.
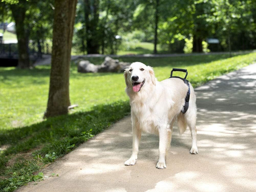
{"type": "Polygon", "coordinates": [[[156,164],[156,168],[163,169],[166,168],[165,164],[165,155],[167,149],[167,140],[168,140],[168,133],[166,128],[159,128],[159,159],[156,164]]]}

